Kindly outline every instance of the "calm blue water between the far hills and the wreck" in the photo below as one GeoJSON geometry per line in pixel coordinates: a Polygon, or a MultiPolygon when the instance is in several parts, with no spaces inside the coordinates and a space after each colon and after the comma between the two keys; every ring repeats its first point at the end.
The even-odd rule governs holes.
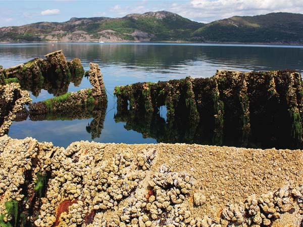
{"type": "MultiPolygon", "coordinates": [[[[108,107],[104,128],[94,138],[97,142],[156,143],[157,138],[148,138],[144,133],[125,127],[125,122],[114,120],[116,100],[115,86],[135,82],[157,82],[181,79],[186,76],[210,77],[217,69],[252,71],[293,69],[303,72],[303,46],[273,45],[219,45],[219,44],[170,44],[170,43],[81,43],[81,44],[0,44],[0,65],[5,68],[27,62],[33,58],[58,49],[63,49],[68,60],[81,59],[85,70],[89,63],[98,63],[104,75],[108,91],[108,107]]],[[[91,87],[83,78],[78,87],[70,84],[69,91],[91,87]]],[[[33,101],[53,97],[42,90],[33,101]]],[[[165,119],[165,109],[161,112],[165,119]]],[[[87,127],[91,119],[72,121],[26,121],[14,122],[9,136],[27,136],[39,141],[52,141],[58,146],[67,146],[77,140],[92,140],[87,127]]],[[[181,124],[181,123],[180,123],[181,124]]],[[[137,130],[138,131],[138,130],[137,130]]],[[[159,141],[159,139],[158,139],[159,141]]],[[[178,141],[178,139],[176,140],[178,141]]],[[[184,141],[179,141],[184,142],[184,141]]]]}

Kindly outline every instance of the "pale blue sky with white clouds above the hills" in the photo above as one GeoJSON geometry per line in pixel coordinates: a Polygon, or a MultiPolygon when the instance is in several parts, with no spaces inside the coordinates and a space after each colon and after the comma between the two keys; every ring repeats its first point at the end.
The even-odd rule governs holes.
{"type": "Polygon", "coordinates": [[[64,22],[72,17],[123,17],[130,13],[166,10],[209,23],[232,16],[272,12],[303,13],[303,0],[0,0],[0,27],[41,21],[64,22]]]}

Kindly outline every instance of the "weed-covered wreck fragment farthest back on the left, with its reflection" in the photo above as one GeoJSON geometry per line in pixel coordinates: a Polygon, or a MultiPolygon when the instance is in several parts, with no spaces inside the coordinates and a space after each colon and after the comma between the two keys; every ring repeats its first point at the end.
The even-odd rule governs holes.
{"type": "Polygon", "coordinates": [[[41,89],[59,96],[67,92],[70,82],[75,86],[80,84],[84,76],[80,59],[67,61],[62,50],[48,53],[45,57],[4,70],[0,67],[0,84],[18,81],[23,90],[30,90],[35,96],[41,89]]]}

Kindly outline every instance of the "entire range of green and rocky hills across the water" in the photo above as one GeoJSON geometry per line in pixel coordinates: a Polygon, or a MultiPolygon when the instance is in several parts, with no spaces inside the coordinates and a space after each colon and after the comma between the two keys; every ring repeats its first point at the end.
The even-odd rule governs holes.
{"type": "Polygon", "coordinates": [[[0,28],[2,42],[194,41],[303,44],[303,14],[231,17],[209,24],[158,11],[0,28]]]}

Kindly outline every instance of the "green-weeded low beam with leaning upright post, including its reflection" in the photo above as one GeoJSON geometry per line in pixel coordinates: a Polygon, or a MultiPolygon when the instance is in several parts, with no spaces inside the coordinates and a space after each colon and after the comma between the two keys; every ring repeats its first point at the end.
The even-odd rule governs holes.
{"type": "Polygon", "coordinates": [[[36,120],[74,120],[93,118],[86,127],[91,138],[100,137],[107,109],[107,95],[103,75],[97,64],[90,63],[86,72],[93,86],[64,95],[33,103],[29,106],[30,119],[36,120]]]}

